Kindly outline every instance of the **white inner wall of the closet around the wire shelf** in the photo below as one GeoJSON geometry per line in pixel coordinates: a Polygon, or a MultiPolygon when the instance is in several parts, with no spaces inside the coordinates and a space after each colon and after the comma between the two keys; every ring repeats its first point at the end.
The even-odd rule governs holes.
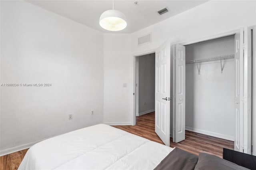
{"type": "MultiPolygon", "coordinates": [[[[234,54],[234,36],[186,46],[186,61],[234,54]]],[[[234,140],[234,59],[186,64],[186,129],[234,140]],[[228,125],[228,126],[227,126],[228,125]]]]}

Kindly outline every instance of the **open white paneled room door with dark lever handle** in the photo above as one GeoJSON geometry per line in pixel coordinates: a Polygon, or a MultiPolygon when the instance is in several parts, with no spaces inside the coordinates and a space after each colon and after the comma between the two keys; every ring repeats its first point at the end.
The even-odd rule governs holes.
{"type": "Polygon", "coordinates": [[[155,131],[170,146],[170,42],[156,49],[155,131]]]}

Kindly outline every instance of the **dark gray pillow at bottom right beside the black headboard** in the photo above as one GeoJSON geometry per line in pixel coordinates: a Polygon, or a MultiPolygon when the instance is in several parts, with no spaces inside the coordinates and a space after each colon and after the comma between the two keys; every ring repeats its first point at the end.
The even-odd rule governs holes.
{"type": "Polygon", "coordinates": [[[195,170],[248,170],[233,162],[229,162],[218,156],[200,153],[195,170]]]}

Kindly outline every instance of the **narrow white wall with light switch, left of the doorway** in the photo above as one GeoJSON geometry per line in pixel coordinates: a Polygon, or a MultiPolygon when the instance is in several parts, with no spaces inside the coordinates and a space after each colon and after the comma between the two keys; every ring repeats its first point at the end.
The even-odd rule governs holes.
{"type": "Polygon", "coordinates": [[[134,57],[130,45],[129,34],[104,34],[104,123],[109,125],[131,124],[134,57]]]}

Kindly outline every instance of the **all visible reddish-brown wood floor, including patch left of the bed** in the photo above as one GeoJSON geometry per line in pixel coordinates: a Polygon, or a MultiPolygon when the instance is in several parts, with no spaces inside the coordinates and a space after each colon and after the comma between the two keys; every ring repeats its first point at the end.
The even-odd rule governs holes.
{"type": "MultiPolygon", "coordinates": [[[[135,126],[114,126],[116,128],[120,128],[127,132],[136,134],[138,136],[142,136],[149,140],[162,143],[162,140],[155,133],[155,113],[148,113],[146,115],[142,115],[137,117],[136,119],[137,125],[135,126]]],[[[222,158],[222,149],[234,148],[234,142],[230,140],[225,140],[221,138],[216,138],[196,132],[186,131],[186,140],[183,140],[179,143],[172,142],[172,138],[170,138],[170,147],[178,147],[183,150],[187,150],[193,154],[197,154],[199,152],[206,152],[210,154],[214,154],[222,158]]],[[[21,150],[18,152],[14,152],[12,154],[8,154],[0,157],[0,170],[17,170],[20,162],[22,161],[24,155],[28,149],[21,150]]]]}

